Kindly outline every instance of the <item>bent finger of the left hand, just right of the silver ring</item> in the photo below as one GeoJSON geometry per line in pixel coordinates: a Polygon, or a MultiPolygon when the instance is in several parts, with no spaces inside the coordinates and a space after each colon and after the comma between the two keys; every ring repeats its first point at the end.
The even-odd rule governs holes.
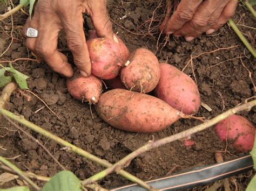
{"type": "Polygon", "coordinates": [[[64,54],[57,51],[59,30],[60,27],[51,22],[47,15],[42,15],[39,19],[35,51],[53,71],[66,77],[72,77],[73,69],[68,63],[68,59],[64,54]]]}

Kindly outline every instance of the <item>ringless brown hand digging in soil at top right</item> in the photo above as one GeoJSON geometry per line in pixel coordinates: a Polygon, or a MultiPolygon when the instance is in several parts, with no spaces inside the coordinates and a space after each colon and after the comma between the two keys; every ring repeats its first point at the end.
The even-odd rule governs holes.
{"type": "Polygon", "coordinates": [[[191,41],[203,32],[211,34],[223,26],[234,15],[237,4],[238,0],[181,0],[161,30],[191,41]]]}

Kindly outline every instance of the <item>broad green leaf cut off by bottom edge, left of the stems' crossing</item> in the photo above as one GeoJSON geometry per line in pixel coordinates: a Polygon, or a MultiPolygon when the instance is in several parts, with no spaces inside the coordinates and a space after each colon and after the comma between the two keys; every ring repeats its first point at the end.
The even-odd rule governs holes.
{"type": "Polygon", "coordinates": [[[45,183],[42,191],[82,191],[81,181],[70,171],[61,171],[45,183]]]}

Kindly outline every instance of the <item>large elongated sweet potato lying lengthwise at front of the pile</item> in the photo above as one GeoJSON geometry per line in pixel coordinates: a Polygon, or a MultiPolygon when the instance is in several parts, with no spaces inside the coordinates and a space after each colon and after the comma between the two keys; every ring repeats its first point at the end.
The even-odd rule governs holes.
{"type": "Polygon", "coordinates": [[[124,89],[102,94],[95,107],[106,123],[132,132],[160,131],[180,118],[176,109],[157,97],[124,89]]]}

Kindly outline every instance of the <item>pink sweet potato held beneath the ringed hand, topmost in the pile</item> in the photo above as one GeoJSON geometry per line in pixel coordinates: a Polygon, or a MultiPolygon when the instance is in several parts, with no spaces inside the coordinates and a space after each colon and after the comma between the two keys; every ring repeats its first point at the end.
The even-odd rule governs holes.
{"type": "Polygon", "coordinates": [[[123,41],[117,36],[114,36],[114,40],[89,39],[87,47],[92,62],[92,74],[105,80],[116,77],[130,55],[123,41]]]}

